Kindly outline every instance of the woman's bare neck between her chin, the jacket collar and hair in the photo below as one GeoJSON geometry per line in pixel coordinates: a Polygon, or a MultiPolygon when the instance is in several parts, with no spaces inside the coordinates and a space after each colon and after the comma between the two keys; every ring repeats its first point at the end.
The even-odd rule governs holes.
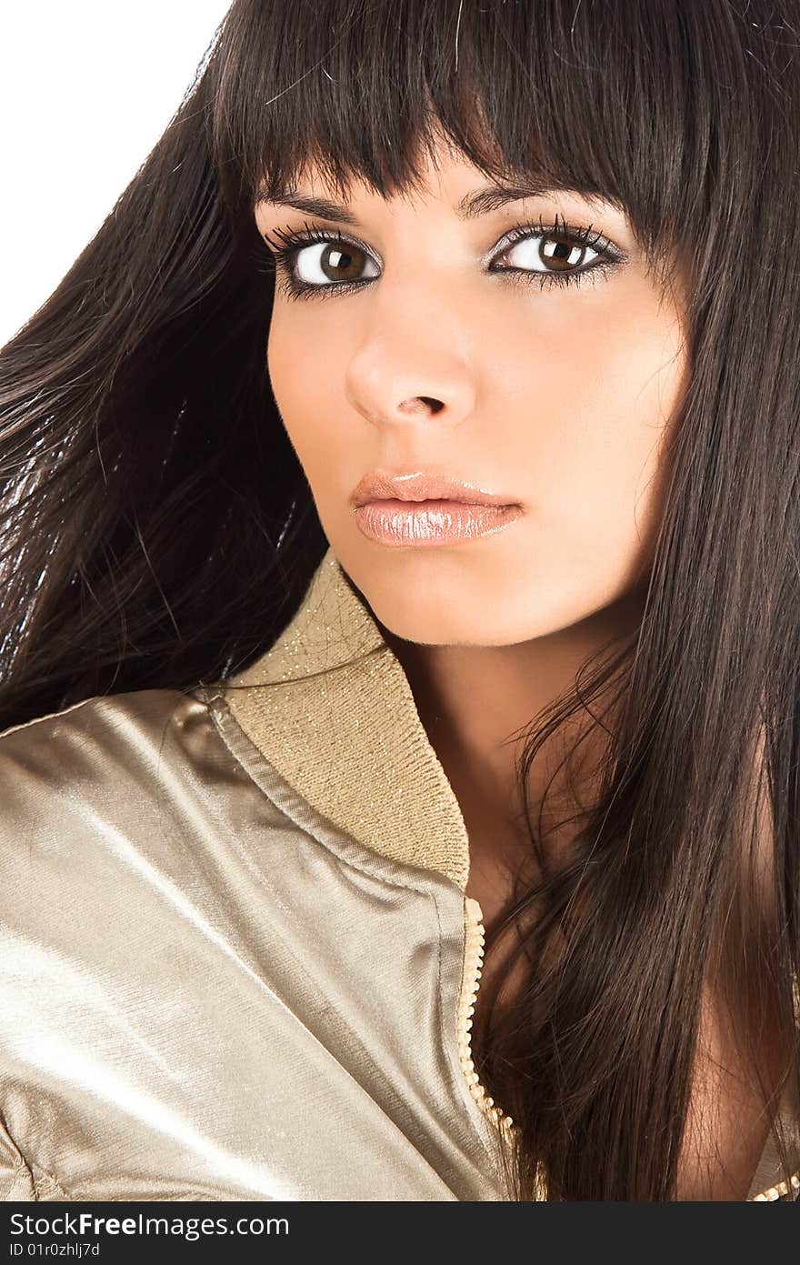
{"type": "MultiPolygon", "coordinates": [[[[483,899],[475,892],[482,904],[492,904],[487,874],[493,860],[502,864],[504,856],[518,858],[530,850],[518,767],[531,722],[573,691],[590,658],[618,649],[634,632],[641,611],[641,591],[632,591],[566,629],[499,646],[425,645],[403,640],[379,624],[461,806],[473,882],[484,883],[483,899]]],[[[602,726],[580,744],[569,770],[565,764],[567,750],[590,721],[589,710],[580,707],[537,753],[526,777],[533,822],[540,810],[543,825],[559,818],[571,803],[573,779],[578,779],[576,787],[590,783],[602,751],[602,726]]]]}

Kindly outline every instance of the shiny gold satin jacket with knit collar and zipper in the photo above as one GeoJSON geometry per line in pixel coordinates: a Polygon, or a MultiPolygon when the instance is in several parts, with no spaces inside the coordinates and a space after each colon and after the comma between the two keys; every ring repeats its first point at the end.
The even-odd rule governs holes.
{"type": "Polygon", "coordinates": [[[245,672],[9,729],[0,779],[4,1199],[508,1198],[464,820],[332,550],[245,672]]]}

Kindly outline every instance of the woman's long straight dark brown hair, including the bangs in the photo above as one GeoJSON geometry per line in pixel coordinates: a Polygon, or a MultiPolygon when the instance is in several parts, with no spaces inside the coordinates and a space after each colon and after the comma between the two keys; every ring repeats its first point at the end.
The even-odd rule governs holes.
{"type": "Polygon", "coordinates": [[[751,1061],[777,1032],[765,1109],[800,1112],[796,0],[236,0],[0,353],[0,726],[224,681],[288,624],[327,543],[268,379],[254,197],[310,159],[402,194],[435,128],[488,176],[617,202],[656,283],[690,278],[641,626],[532,721],[519,768],[524,793],[600,700],[602,777],[569,861],[508,913],[536,908],[530,979],[475,1050],[517,1127],[511,1198],[543,1175],[551,1199],[671,1199],[704,982],[751,1061]]]}

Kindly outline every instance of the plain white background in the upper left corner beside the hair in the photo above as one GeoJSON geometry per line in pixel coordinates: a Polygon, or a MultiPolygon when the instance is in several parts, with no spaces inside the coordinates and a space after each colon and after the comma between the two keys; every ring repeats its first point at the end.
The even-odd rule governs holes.
{"type": "Polygon", "coordinates": [[[179,106],[229,6],[0,6],[0,347],[100,228],[179,106]]]}

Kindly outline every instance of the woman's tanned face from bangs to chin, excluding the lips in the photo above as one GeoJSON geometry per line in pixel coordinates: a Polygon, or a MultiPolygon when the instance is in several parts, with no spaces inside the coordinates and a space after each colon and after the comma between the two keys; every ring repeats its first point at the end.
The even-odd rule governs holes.
{"type": "MultiPolygon", "coordinates": [[[[257,206],[270,247],[307,226],[326,238],[287,262],[305,295],[278,273],[268,368],[325,534],[380,622],[409,641],[507,645],[641,578],[684,390],[681,312],[610,204],[538,194],[465,216],[487,180],[437,158],[413,200],[354,185],[350,220],[257,206]],[[588,242],[566,240],[565,221],[588,242]],[[519,510],[468,539],[374,539],[351,503],[370,472],[445,476],[519,510]]],[[[313,168],[296,192],[332,199],[313,168]]]]}

